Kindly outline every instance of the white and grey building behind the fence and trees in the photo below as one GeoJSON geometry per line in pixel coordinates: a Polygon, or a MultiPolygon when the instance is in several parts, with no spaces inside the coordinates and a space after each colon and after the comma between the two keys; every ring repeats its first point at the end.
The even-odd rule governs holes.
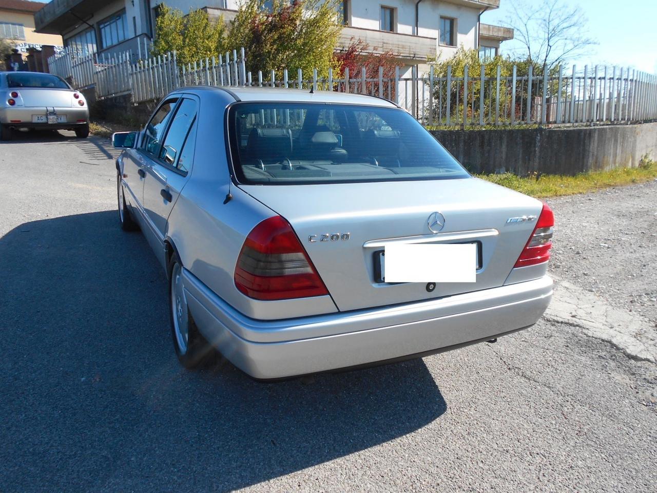
{"type": "MultiPolygon", "coordinates": [[[[343,0],[345,28],[337,49],[351,39],[363,39],[378,53],[398,55],[402,74],[428,57],[446,58],[457,47],[479,49],[482,56],[497,53],[513,30],[480,22],[497,9],[500,0],[343,0]]],[[[35,13],[37,32],[60,34],[64,45],[79,51],[116,53],[131,50],[140,56],[143,39],[152,39],[160,3],[189,12],[206,9],[210,16],[235,16],[239,0],[52,0],[35,13]]]]}

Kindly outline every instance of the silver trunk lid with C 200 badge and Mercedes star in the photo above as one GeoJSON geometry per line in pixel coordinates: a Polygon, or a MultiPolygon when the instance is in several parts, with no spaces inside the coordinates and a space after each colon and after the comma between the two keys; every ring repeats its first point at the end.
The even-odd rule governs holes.
{"type": "Polygon", "coordinates": [[[472,177],[240,187],[290,222],[341,311],[503,285],[535,225],[507,219],[538,216],[542,208],[539,200],[472,177]],[[439,233],[428,227],[433,212],[445,218],[439,233]],[[342,239],[345,233],[348,240],[342,239]],[[340,239],[311,243],[312,235],[340,239]],[[476,283],[439,283],[429,293],[425,283],[377,282],[376,252],[397,241],[480,242],[482,265],[476,283]]]}

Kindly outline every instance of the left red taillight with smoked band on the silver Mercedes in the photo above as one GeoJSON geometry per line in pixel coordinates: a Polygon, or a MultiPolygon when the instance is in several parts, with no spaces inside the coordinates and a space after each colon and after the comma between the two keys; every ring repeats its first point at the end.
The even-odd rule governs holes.
{"type": "Polygon", "coordinates": [[[328,294],[292,226],[281,216],[265,219],[246,237],[235,266],[235,286],[257,300],[328,294]]]}

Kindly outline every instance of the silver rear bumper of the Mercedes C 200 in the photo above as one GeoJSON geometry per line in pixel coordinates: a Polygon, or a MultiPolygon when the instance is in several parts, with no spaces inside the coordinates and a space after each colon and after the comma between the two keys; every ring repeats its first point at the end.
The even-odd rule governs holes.
{"type": "Polygon", "coordinates": [[[275,379],[422,356],[533,325],[552,297],[545,276],[476,293],[259,321],[240,314],[185,271],[185,291],[204,336],[237,367],[275,379]]]}

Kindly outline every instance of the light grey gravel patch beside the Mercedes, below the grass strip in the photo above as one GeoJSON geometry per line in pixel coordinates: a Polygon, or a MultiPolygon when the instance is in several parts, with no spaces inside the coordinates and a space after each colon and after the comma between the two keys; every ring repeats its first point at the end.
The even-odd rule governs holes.
{"type": "Polygon", "coordinates": [[[547,202],[551,272],[657,324],[657,180],[547,202]]]}

